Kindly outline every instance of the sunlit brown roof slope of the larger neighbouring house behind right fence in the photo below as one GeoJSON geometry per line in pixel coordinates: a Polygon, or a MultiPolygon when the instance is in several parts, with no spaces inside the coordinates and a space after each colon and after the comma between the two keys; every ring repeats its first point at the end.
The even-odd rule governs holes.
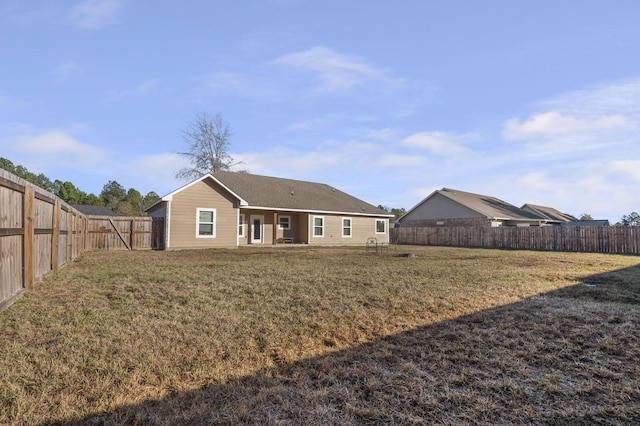
{"type": "Polygon", "coordinates": [[[538,215],[488,195],[474,194],[472,192],[464,192],[450,188],[442,188],[437,192],[488,218],[510,220],[541,219],[538,215]]]}

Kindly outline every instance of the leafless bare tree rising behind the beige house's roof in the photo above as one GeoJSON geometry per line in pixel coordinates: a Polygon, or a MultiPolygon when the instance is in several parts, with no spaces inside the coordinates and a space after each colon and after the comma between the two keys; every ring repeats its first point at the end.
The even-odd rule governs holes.
{"type": "Polygon", "coordinates": [[[207,173],[231,170],[231,167],[241,164],[229,154],[230,138],[229,123],[220,114],[213,117],[204,112],[196,114],[182,132],[187,151],[179,153],[189,159],[191,167],[178,170],[176,177],[193,180],[207,173]]]}

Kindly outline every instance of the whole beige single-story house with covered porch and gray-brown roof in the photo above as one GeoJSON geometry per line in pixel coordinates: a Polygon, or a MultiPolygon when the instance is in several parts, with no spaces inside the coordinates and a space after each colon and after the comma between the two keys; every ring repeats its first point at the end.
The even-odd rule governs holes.
{"type": "Polygon", "coordinates": [[[164,218],[167,249],[388,243],[393,217],[329,185],[235,172],[202,176],[145,211],[164,218]]]}

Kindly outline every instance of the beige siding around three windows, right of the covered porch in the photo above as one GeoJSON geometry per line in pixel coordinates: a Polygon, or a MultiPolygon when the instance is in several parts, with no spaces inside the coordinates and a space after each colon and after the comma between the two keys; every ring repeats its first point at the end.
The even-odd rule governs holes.
{"type": "Polygon", "coordinates": [[[365,244],[367,238],[375,237],[378,242],[389,241],[389,219],[362,216],[344,216],[330,214],[309,214],[309,244],[313,245],[359,245],[365,244]],[[313,236],[313,218],[324,217],[324,237],[313,236]],[[342,236],[342,219],[351,218],[351,237],[342,236]],[[385,221],[385,233],[376,234],[376,219],[385,221]]]}

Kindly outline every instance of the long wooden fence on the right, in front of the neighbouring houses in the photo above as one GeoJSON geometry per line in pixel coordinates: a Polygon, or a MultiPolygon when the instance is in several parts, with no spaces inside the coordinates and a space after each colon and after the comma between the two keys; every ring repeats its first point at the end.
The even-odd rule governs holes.
{"type": "Polygon", "coordinates": [[[640,254],[640,227],[424,227],[394,228],[398,244],[492,249],[640,254]]]}

